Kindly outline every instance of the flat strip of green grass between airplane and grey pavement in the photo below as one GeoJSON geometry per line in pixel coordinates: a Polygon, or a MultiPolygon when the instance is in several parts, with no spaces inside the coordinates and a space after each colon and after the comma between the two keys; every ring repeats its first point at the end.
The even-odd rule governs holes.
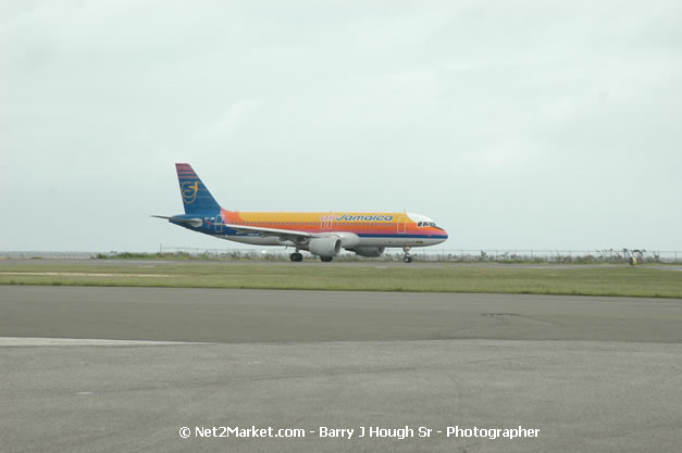
{"type": "Polygon", "coordinates": [[[414,263],[108,263],[26,261],[0,267],[0,285],[506,292],[682,298],[682,272],[624,265],[526,268],[414,263]]]}

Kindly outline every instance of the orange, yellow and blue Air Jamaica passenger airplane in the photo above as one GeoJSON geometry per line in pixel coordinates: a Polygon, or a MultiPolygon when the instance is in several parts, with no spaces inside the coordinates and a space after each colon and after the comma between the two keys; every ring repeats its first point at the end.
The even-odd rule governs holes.
{"type": "Polygon", "coordinates": [[[359,256],[376,257],[386,248],[401,248],[402,261],[411,263],[413,247],[447,240],[445,229],[431,218],[399,212],[237,212],[218,204],[187,163],[175,164],[185,214],[152,215],[191,231],[253,246],[284,246],[296,251],[293,262],[303,260],[301,250],[331,262],[342,248],[359,256]]]}

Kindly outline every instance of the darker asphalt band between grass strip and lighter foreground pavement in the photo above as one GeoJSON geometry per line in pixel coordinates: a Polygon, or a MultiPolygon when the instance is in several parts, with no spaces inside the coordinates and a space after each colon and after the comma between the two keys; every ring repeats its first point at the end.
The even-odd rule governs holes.
{"type": "Polygon", "coordinates": [[[674,299],[0,287],[0,336],[248,342],[682,342],[674,299]]]}

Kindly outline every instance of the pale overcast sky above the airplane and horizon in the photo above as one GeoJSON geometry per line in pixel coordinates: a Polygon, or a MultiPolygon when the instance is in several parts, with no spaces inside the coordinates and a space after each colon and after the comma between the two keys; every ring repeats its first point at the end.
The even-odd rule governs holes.
{"type": "Polygon", "coordinates": [[[682,250],[682,3],[3,1],[0,250],[228,248],[183,211],[402,211],[444,249],[682,250]]]}

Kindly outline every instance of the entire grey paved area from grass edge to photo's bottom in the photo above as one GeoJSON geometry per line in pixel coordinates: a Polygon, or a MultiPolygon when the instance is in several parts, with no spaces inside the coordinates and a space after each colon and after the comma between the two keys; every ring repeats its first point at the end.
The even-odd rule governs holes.
{"type": "Polygon", "coordinates": [[[682,300],[0,287],[0,337],[8,452],[682,443],[682,300]],[[519,425],[538,437],[446,436],[519,425]],[[306,437],[196,437],[213,426],[306,437]],[[406,426],[416,437],[358,437],[406,426]],[[355,433],[320,437],[321,427],[355,433]],[[419,427],[433,431],[420,438],[419,427]]]}

